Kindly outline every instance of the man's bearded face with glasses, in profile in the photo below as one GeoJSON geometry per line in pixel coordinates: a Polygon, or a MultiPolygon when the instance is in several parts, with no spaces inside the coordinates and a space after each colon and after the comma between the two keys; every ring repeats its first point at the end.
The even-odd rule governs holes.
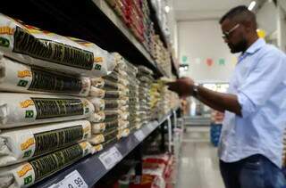
{"type": "Polygon", "coordinates": [[[221,25],[224,42],[230,47],[231,53],[245,52],[248,41],[244,26],[229,19],[223,20],[221,25]]]}

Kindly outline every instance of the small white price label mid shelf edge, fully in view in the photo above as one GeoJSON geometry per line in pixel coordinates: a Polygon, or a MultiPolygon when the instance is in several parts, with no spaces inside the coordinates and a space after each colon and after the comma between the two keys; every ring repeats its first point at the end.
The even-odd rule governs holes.
{"type": "Polygon", "coordinates": [[[111,169],[117,162],[122,159],[122,153],[116,147],[112,147],[99,156],[100,161],[105,166],[105,169],[111,169]]]}

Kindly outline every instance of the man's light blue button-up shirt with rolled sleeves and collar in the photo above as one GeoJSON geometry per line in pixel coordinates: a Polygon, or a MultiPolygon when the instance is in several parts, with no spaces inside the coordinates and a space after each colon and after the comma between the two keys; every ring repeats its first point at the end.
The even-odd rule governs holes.
{"type": "Polygon", "coordinates": [[[282,167],[286,126],[286,56],[258,39],[239,57],[229,91],[236,94],[242,117],[225,111],[219,157],[235,162],[262,154],[282,167]]]}

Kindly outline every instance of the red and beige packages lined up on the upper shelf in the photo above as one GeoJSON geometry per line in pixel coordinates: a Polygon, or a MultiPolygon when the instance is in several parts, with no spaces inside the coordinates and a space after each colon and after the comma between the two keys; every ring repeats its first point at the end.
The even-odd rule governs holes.
{"type": "MultiPolygon", "coordinates": [[[[106,1],[119,15],[133,35],[142,43],[147,52],[156,61],[161,69],[164,69],[166,76],[172,76],[172,61],[170,51],[163,45],[161,38],[156,35],[154,21],[151,20],[151,12],[147,0],[143,1],[123,1],[107,0],[106,1]]],[[[163,21],[164,35],[169,36],[167,27],[167,15],[164,12],[164,3],[152,1],[152,4],[158,11],[156,16],[158,20],[163,21]]],[[[161,31],[160,31],[161,32],[161,31]]]]}

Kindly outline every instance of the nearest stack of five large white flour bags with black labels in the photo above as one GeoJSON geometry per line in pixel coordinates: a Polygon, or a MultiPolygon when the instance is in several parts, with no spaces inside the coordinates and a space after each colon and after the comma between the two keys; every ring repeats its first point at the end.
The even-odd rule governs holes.
{"type": "Polygon", "coordinates": [[[89,77],[113,53],[0,14],[0,187],[28,187],[95,152],[89,77]]]}

